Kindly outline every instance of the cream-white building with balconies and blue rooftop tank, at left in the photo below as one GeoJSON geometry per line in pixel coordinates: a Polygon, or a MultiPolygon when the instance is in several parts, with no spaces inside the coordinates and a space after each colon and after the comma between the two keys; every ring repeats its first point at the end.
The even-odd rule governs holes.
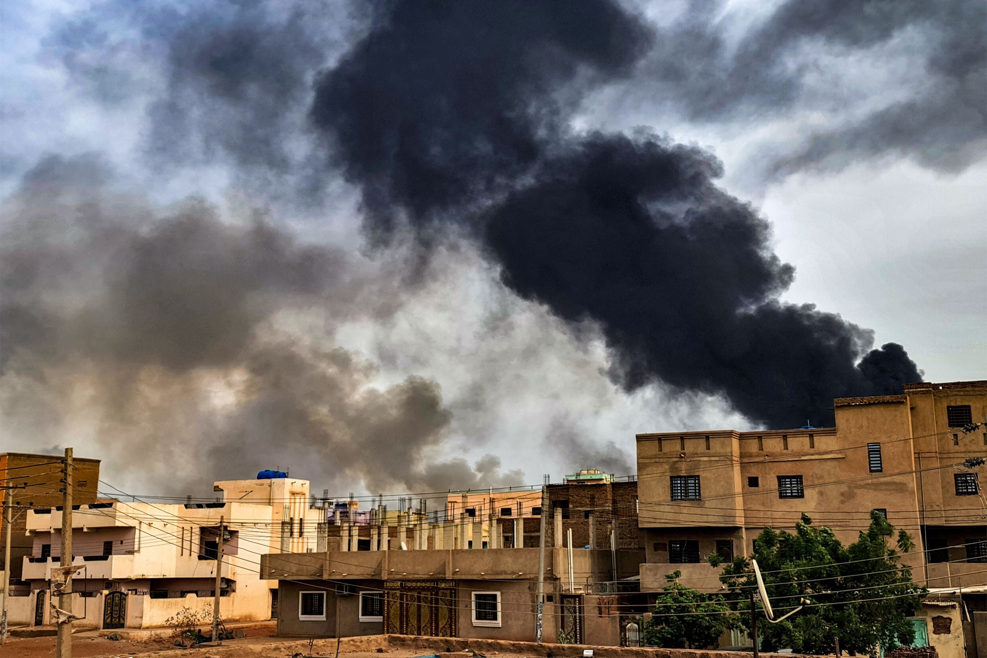
{"type": "MultiPolygon", "coordinates": [[[[318,548],[325,511],[311,506],[303,479],[217,481],[213,489],[213,502],[104,498],[73,506],[73,564],[83,567],[72,581],[78,593],[73,612],[84,618],[78,625],[147,628],[165,625],[183,608],[211,610],[220,528],[221,618],[260,621],[276,615],[277,582],[261,578],[261,555],[318,548]]],[[[46,602],[51,568],[60,558],[61,517],[60,508],[27,514],[27,587],[11,597],[12,624],[50,620],[46,602]]]]}

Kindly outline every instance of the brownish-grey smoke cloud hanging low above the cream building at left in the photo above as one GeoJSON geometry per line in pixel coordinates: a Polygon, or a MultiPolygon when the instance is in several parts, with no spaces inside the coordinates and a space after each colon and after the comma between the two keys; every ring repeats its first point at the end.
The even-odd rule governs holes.
{"type": "Polygon", "coordinates": [[[12,433],[78,439],[88,425],[116,468],[172,492],[272,461],[374,491],[520,483],[492,456],[434,459],[451,419],[438,384],[382,385],[333,344],[335,324],[403,304],[402,262],[361,270],[261,211],[224,218],[190,199],[162,212],[112,180],[98,159],[52,157],[0,207],[12,433]]]}

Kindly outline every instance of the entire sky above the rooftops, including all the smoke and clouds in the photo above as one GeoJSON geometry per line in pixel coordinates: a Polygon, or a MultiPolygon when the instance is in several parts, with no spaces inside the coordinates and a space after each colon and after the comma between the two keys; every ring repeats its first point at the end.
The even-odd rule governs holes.
{"type": "Polygon", "coordinates": [[[398,494],[984,379],[984,6],[844,5],[5,7],[0,441],[398,494]]]}

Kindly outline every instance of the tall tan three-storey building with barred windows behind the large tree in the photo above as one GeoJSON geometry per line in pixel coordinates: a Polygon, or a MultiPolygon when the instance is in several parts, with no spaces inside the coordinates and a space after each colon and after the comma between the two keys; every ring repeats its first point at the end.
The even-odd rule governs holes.
{"type": "MultiPolygon", "coordinates": [[[[909,384],[834,410],[834,427],[639,434],[642,590],[678,569],[683,584],[717,591],[721,569],[707,555],[749,555],[761,530],[791,530],[802,512],[852,543],[877,510],[914,538],[904,561],[915,580],[955,589],[962,621],[951,632],[962,626],[975,646],[974,619],[987,621],[985,467],[964,462],[987,455],[987,428],[975,425],[987,418],[987,382],[909,384]]],[[[930,637],[943,634],[932,620],[948,604],[916,621],[930,637]]]]}

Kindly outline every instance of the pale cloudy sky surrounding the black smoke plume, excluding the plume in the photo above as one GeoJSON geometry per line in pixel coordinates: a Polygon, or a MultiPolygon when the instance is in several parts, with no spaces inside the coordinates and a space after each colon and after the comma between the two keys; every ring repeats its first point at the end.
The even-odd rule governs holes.
{"type": "MultiPolygon", "coordinates": [[[[887,11],[886,3],[859,3],[882,9],[856,15],[842,4],[625,4],[650,37],[619,70],[594,62],[591,82],[574,73],[554,92],[568,112],[565,129],[646,129],[712,154],[722,165],[716,184],[770,223],[771,248],[795,267],[782,301],[873,329],[874,346],[900,343],[926,381],[984,379],[984,5],[956,0],[931,3],[934,10],[900,2],[887,11]]],[[[330,263],[305,269],[312,285],[352,292],[320,292],[332,301],[290,308],[266,302],[272,306],[263,313],[251,302],[244,316],[262,313],[254,330],[279,332],[282,342],[290,336],[292,354],[303,347],[334,354],[325,357],[336,369],[329,385],[309,371],[285,373],[276,385],[259,375],[269,335],[263,345],[244,338],[252,355],[245,361],[207,354],[175,366],[162,357],[165,374],[155,374],[161,363],[119,357],[118,345],[94,347],[96,334],[65,347],[61,331],[32,342],[5,327],[3,349],[16,353],[0,374],[4,448],[74,445],[77,455],[105,460],[107,479],[145,493],[207,492],[213,477],[252,476],[259,467],[290,468],[334,492],[398,493],[446,488],[445,481],[538,483],[543,473],[557,478],[597,466],[623,475],[634,470],[635,433],[757,426],[723,396],[660,377],[621,386],[612,335],[591,318],[560,319],[545,297],[522,299],[501,282],[489,248],[468,236],[450,233],[426,256],[412,243],[374,247],[366,187],[339,168],[312,166],[324,159],[323,142],[307,123],[317,82],[334,82],[334,67],[373,19],[342,2],[313,11],[291,2],[7,3],[0,20],[4,230],[8,247],[30,242],[33,254],[50,256],[53,244],[64,243],[52,261],[73,263],[65,265],[72,273],[55,266],[35,273],[33,294],[48,311],[60,304],[64,320],[66,309],[112,307],[109,297],[90,300],[95,293],[81,283],[66,285],[82,281],[79,272],[103,282],[96,287],[129,276],[114,265],[118,245],[103,256],[83,253],[79,245],[89,250],[94,241],[77,232],[113,225],[139,240],[190,198],[211,204],[208,221],[217,226],[244,226],[260,212],[293,241],[278,252],[289,273],[265,294],[308,299],[309,283],[298,282],[298,268],[312,261],[306,247],[330,263]],[[210,42],[218,44],[210,46],[214,57],[202,55],[210,42]],[[246,74],[222,60],[243,51],[246,74]],[[95,224],[84,220],[86,203],[100,206],[95,224]],[[56,227],[38,229],[51,217],[56,227]],[[110,264],[90,271],[104,256],[110,264]],[[343,274],[326,273],[343,261],[343,274]],[[112,361],[104,358],[110,351],[112,361]],[[120,369],[133,379],[119,378],[120,369]],[[238,388],[251,377],[254,385],[238,388]],[[282,423],[295,421],[251,398],[270,387],[315,395],[303,381],[347,392],[339,408],[349,411],[336,411],[329,438],[319,438],[325,428],[312,430],[308,417],[284,439],[282,423]],[[431,388],[422,393],[417,382],[431,388]],[[117,396],[135,390],[141,400],[117,408],[125,406],[117,396]],[[437,406],[429,407],[427,427],[394,448],[384,437],[407,423],[367,426],[357,416],[391,412],[368,391],[393,401],[418,391],[423,398],[415,400],[437,406]],[[392,448],[393,460],[383,456],[392,448]],[[134,450],[151,451],[148,464],[135,467],[134,450]]],[[[216,240],[235,258],[250,251],[237,236],[216,240]]],[[[4,252],[7,276],[22,271],[10,259],[23,253],[4,252]]],[[[259,267],[269,262],[259,258],[259,267]]],[[[5,288],[6,301],[18,290],[5,288]]]]}

